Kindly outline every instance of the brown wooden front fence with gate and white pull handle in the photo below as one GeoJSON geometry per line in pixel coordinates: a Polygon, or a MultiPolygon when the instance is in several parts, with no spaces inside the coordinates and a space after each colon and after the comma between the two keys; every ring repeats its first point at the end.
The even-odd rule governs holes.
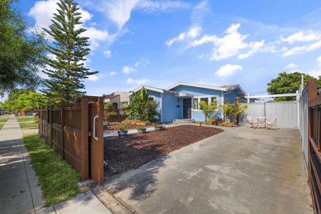
{"type": "Polygon", "coordinates": [[[83,181],[91,177],[103,183],[103,99],[83,96],[81,101],[77,106],[39,107],[39,134],[83,181]]]}

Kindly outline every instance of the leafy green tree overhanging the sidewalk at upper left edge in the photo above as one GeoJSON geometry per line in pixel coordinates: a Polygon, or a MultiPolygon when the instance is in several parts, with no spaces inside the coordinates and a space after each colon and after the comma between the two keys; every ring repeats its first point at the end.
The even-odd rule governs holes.
{"type": "Polygon", "coordinates": [[[39,68],[46,66],[46,37],[22,16],[17,0],[0,1],[0,96],[17,86],[41,85],[39,68]]]}

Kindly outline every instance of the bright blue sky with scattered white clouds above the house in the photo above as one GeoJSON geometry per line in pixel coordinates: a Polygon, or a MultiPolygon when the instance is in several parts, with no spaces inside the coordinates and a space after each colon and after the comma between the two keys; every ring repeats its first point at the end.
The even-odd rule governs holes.
{"type": "MultiPolygon", "coordinates": [[[[20,8],[48,27],[55,2],[21,1],[20,8]]],[[[91,38],[86,67],[99,71],[84,82],[88,95],[180,81],[240,84],[253,94],[282,71],[321,75],[321,1],[78,3],[91,38]]]]}

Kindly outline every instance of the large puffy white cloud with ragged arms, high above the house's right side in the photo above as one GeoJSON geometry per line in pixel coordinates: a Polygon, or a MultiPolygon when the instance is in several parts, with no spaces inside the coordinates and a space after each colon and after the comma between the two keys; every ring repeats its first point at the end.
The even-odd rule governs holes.
{"type": "Polygon", "coordinates": [[[247,58],[253,53],[259,51],[263,47],[265,40],[260,42],[244,43],[243,40],[245,40],[248,35],[242,35],[238,32],[240,26],[240,23],[233,23],[225,31],[227,34],[224,37],[219,38],[216,35],[204,35],[201,39],[193,41],[191,46],[198,46],[207,42],[213,43],[215,47],[212,50],[212,55],[210,57],[211,60],[218,61],[229,58],[239,54],[239,51],[242,49],[249,49],[249,51],[244,54],[239,54],[238,58],[247,58]]]}

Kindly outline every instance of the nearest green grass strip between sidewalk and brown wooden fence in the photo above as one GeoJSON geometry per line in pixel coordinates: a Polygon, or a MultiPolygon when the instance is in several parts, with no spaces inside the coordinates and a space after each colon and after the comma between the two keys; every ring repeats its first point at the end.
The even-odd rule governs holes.
{"type": "Polygon", "coordinates": [[[33,168],[47,201],[46,206],[75,197],[81,175],[63,160],[38,134],[23,135],[33,168]]]}

